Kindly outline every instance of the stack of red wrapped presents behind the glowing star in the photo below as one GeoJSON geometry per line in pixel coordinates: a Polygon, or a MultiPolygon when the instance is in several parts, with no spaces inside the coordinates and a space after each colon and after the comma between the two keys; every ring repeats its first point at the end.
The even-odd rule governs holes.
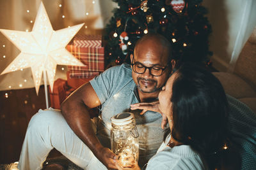
{"type": "Polygon", "coordinates": [[[67,80],[59,78],[54,82],[53,90],[49,90],[52,108],[60,109],[60,104],[68,95],[104,71],[104,47],[101,38],[102,36],[77,35],[67,45],[66,49],[85,66],[68,66],[67,80]]]}

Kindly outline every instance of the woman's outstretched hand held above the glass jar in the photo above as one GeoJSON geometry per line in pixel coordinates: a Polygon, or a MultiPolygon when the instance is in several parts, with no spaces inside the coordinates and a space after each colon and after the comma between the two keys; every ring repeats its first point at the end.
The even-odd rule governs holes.
{"type": "Polygon", "coordinates": [[[131,110],[142,110],[140,115],[143,115],[148,110],[156,111],[156,112],[160,113],[163,117],[161,127],[162,127],[162,129],[164,129],[164,127],[166,127],[166,124],[168,123],[168,119],[167,119],[166,115],[161,113],[158,106],[159,106],[159,101],[154,101],[152,103],[135,103],[135,104],[131,104],[131,110]]]}

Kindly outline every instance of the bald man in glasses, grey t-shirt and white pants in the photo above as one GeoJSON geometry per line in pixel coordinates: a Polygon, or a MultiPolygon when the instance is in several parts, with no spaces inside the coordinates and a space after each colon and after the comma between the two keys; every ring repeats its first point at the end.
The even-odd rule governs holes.
{"type": "Polygon", "coordinates": [[[42,169],[52,148],[84,169],[116,169],[116,155],[109,149],[110,118],[125,111],[134,113],[139,164],[145,164],[163,142],[162,117],[154,111],[140,115],[130,104],[157,100],[175,64],[171,53],[167,39],[147,34],[136,43],[131,65],[111,67],[82,85],[61,104],[61,111],[38,111],[29,122],[19,169],[42,169]],[[88,110],[100,105],[99,119],[92,121],[88,110]]]}

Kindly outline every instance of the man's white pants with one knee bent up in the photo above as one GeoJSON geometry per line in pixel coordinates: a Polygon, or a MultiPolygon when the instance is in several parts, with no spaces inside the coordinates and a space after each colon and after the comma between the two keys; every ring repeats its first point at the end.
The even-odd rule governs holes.
{"type": "Polygon", "coordinates": [[[29,122],[19,169],[42,169],[52,148],[83,169],[107,169],[70,129],[59,110],[39,110],[29,122]]]}

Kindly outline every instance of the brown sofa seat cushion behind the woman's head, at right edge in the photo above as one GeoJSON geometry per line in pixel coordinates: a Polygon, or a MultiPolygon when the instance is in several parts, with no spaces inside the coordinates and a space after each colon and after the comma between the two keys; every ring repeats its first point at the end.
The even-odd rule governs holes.
{"type": "Polygon", "coordinates": [[[214,72],[213,74],[220,80],[225,92],[230,96],[236,99],[256,97],[255,90],[239,76],[223,72],[214,72]]]}

